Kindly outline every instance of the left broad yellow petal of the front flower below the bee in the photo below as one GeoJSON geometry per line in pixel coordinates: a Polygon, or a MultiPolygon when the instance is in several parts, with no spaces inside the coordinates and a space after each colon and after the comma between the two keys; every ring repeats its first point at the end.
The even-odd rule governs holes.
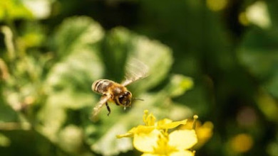
{"type": "Polygon", "coordinates": [[[141,152],[153,152],[158,145],[159,130],[152,130],[150,133],[136,133],[133,139],[133,146],[141,152]]]}

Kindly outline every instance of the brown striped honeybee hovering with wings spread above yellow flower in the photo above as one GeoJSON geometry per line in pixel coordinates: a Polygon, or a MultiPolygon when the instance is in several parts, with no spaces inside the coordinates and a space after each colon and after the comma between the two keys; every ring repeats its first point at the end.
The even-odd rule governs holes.
{"type": "Polygon", "coordinates": [[[96,118],[104,104],[108,110],[107,115],[109,116],[111,111],[108,106],[108,101],[113,101],[116,105],[123,106],[124,109],[131,106],[133,98],[126,86],[138,79],[147,77],[148,67],[143,62],[133,60],[133,63],[128,64],[127,69],[125,80],[120,84],[109,79],[98,79],[93,82],[92,90],[102,95],[101,100],[98,101],[98,104],[93,108],[93,118],[96,118]]]}

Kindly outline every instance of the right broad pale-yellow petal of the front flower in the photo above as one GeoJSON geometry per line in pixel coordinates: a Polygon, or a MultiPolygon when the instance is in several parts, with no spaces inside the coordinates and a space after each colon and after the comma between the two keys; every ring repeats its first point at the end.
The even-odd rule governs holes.
{"type": "Polygon", "coordinates": [[[197,143],[195,130],[175,130],[169,135],[168,144],[179,150],[187,150],[197,143]]]}

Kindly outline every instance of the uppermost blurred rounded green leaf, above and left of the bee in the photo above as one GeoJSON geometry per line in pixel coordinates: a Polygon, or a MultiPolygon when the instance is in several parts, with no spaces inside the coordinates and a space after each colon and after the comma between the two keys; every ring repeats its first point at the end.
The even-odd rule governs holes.
{"type": "Polygon", "coordinates": [[[58,55],[90,47],[103,38],[103,28],[86,16],[67,18],[56,31],[54,45],[58,55]]]}

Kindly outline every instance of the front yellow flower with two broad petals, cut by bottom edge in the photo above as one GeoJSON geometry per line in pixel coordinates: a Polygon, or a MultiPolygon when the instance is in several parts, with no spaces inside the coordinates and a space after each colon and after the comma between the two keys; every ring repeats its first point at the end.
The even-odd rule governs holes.
{"type": "Polygon", "coordinates": [[[189,149],[196,143],[195,130],[174,130],[170,134],[153,130],[152,135],[135,135],[133,140],[134,147],[144,152],[142,156],[193,156],[195,152],[189,149]]]}

